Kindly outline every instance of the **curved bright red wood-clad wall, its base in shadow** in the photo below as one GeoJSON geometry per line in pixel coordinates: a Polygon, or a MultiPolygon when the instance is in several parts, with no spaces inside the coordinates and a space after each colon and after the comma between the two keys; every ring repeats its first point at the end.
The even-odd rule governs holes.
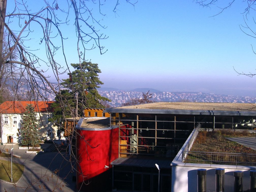
{"type": "Polygon", "coordinates": [[[118,158],[118,127],[110,130],[77,129],[77,189],[108,191],[112,186],[112,165],[118,158]],[[105,168],[109,166],[109,168],[105,168]],[[85,185],[88,184],[89,185],[85,185]],[[81,187],[81,188],[80,188],[81,187]]]}

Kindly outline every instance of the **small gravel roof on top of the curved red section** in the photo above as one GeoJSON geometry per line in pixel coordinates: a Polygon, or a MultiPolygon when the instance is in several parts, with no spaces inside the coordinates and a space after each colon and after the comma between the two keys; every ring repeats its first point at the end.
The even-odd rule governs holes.
{"type": "Polygon", "coordinates": [[[92,128],[92,129],[110,127],[110,119],[109,118],[87,118],[83,120],[81,127],[92,128]]]}

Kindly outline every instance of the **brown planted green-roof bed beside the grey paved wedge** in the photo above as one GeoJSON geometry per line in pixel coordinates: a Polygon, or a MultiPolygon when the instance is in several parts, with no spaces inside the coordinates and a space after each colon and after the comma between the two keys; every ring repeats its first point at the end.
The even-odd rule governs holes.
{"type": "MultiPolygon", "coordinates": [[[[217,153],[242,153],[242,154],[256,154],[255,150],[252,150],[249,147],[240,145],[236,142],[229,141],[225,137],[255,137],[255,133],[249,133],[246,131],[243,132],[234,132],[232,130],[221,130],[221,131],[212,131],[212,132],[207,132],[207,131],[200,131],[197,135],[197,138],[191,148],[190,151],[196,151],[196,152],[217,152],[217,153]]],[[[185,162],[187,163],[206,163],[209,164],[210,162],[208,161],[193,161],[193,160],[201,160],[212,158],[209,156],[200,156],[200,155],[190,155],[187,156],[185,162]]],[[[222,157],[218,158],[230,158],[230,157],[225,157],[223,155],[222,157]]],[[[236,158],[236,157],[233,157],[236,158]]],[[[254,157],[250,157],[250,159],[243,159],[243,161],[246,162],[254,162],[254,157]]],[[[217,159],[218,161],[221,161],[221,159],[217,159]]],[[[226,161],[226,160],[224,160],[226,161]]],[[[212,162],[214,164],[223,164],[223,162],[212,162]]],[[[225,163],[225,164],[233,164],[233,163],[225,163]]]]}

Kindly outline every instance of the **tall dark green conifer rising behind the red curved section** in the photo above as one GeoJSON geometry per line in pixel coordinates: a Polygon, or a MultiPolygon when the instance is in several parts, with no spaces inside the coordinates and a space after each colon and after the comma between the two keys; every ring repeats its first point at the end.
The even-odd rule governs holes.
{"type": "MultiPolygon", "coordinates": [[[[83,61],[81,65],[79,63],[71,63],[71,66],[75,70],[69,74],[68,79],[63,79],[61,85],[69,90],[70,100],[69,103],[71,109],[74,109],[76,114],[76,103],[78,103],[78,115],[83,116],[84,108],[103,108],[101,101],[110,101],[108,98],[102,97],[96,88],[99,88],[103,82],[100,81],[98,73],[101,73],[97,63],[91,63],[83,61]],[[77,102],[78,100],[78,102],[77,102]]],[[[56,98],[56,101],[60,98],[56,98]]],[[[62,100],[68,101],[66,98],[62,100]]],[[[72,114],[71,110],[71,115],[72,114]]],[[[74,114],[74,116],[76,116],[74,114]]]]}

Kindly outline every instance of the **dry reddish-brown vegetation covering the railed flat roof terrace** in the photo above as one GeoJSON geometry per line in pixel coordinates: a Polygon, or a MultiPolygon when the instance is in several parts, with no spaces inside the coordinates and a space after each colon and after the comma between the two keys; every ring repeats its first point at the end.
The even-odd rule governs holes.
{"type": "MultiPolygon", "coordinates": [[[[225,164],[236,165],[227,161],[236,161],[236,155],[233,157],[228,154],[210,156],[210,154],[200,155],[199,152],[214,152],[214,153],[240,153],[240,154],[256,154],[256,151],[243,146],[239,143],[228,140],[226,137],[255,137],[255,133],[249,133],[246,130],[243,132],[234,132],[232,130],[220,130],[220,131],[201,131],[198,133],[197,138],[185,160],[185,163],[203,163],[203,164],[225,164]],[[198,153],[196,153],[198,152],[198,153]],[[213,160],[214,158],[215,160],[213,160]],[[210,161],[210,159],[212,159],[210,161]],[[224,160],[224,161],[223,161],[224,160]]],[[[255,158],[242,155],[240,161],[241,165],[255,165],[255,158]]]]}

